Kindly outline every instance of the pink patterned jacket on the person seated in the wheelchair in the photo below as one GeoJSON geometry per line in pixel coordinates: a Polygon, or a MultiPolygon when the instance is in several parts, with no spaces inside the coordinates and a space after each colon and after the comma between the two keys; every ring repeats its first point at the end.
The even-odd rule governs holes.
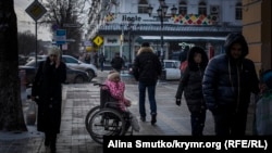
{"type": "Polygon", "coordinates": [[[129,106],[129,101],[124,97],[125,84],[123,81],[115,82],[109,79],[107,79],[104,84],[109,87],[111,95],[119,100],[119,107],[122,111],[126,111],[126,106],[129,106]]]}

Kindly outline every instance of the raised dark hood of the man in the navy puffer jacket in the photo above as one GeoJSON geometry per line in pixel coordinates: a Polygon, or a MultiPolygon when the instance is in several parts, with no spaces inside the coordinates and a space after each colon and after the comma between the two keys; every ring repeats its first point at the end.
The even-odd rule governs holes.
{"type": "Polygon", "coordinates": [[[226,40],[224,43],[225,53],[227,56],[232,58],[231,55],[231,47],[233,43],[240,43],[242,44],[242,56],[244,59],[248,54],[248,46],[245,37],[239,33],[232,33],[226,36],[226,40]]]}

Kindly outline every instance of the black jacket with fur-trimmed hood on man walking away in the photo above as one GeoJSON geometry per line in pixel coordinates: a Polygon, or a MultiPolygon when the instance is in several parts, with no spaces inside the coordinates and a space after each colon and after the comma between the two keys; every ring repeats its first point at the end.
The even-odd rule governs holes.
{"type": "Polygon", "coordinates": [[[133,75],[137,81],[154,86],[161,75],[159,58],[150,47],[141,47],[133,64],[133,75]]]}

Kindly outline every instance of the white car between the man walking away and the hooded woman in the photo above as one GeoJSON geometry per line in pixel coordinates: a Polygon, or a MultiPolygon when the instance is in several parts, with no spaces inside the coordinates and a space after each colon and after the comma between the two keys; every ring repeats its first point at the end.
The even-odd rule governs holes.
{"type": "Polygon", "coordinates": [[[181,62],[177,60],[163,60],[166,80],[181,79],[181,62]]]}

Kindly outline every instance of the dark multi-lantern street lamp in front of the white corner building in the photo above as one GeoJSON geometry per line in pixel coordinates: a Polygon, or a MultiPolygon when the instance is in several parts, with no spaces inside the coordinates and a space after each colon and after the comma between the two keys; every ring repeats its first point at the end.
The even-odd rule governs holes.
{"type": "MultiPolygon", "coordinates": [[[[157,10],[157,13],[158,13],[158,17],[160,18],[160,22],[161,22],[161,51],[160,51],[160,58],[161,58],[162,67],[164,67],[164,65],[163,65],[163,60],[164,60],[164,52],[163,52],[163,43],[164,43],[163,42],[163,20],[169,17],[169,16],[166,16],[169,7],[165,4],[164,0],[159,0],[159,2],[160,2],[160,5],[159,5],[159,9],[157,10]]],[[[149,4],[147,10],[148,10],[149,16],[151,16],[153,8],[149,4]]],[[[172,16],[176,14],[176,11],[177,11],[177,9],[175,8],[175,5],[173,5],[173,8],[171,9],[172,16]]]]}

